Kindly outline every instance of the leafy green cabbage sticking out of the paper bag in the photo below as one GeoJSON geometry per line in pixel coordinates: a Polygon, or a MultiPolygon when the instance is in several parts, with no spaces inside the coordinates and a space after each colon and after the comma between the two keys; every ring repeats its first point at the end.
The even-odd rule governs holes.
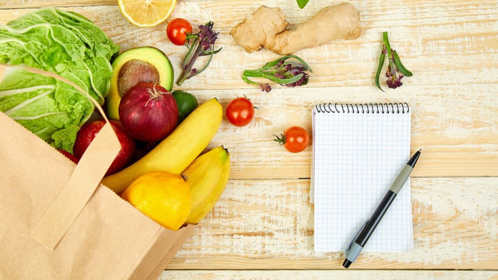
{"type": "MultiPolygon", "coordinates": [[[[56,73],[104,103],[119,52],[91,20],[42,8],[0,25],[0,63],[56,73]]],[[[0,83],[0,111],[41,139],[72,152],[76,134],[94,110],[88,97],[50,77],[16,69],[0,83]]]]}

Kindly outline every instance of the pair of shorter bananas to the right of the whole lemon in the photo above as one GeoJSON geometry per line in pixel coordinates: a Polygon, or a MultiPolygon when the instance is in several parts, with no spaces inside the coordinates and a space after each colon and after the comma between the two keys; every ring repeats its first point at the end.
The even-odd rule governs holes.
{"type": "Polygon", "coordinates": [[[186,224],[199,223],[220,199],[230,177],[230,153],[223,146],[199,156],[182,172],[190,186],[192,209],[186,224]]]}

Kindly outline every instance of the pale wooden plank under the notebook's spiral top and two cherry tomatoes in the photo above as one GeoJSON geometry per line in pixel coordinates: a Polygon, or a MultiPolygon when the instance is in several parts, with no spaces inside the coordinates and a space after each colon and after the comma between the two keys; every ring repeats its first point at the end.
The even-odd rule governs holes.
{"type": "Polygon", "coordinates": [[[204,102],[216,97],[226,106],[247,95],[256,117],[247,127],[223,121],[209,148],[231,151],[232,178],[309,178],[311,145],[293,154],[273,141],[297,125],[311,133],[311,108],[324,102],[407,102],[411,107],[411,150],[423,148],[413,176],[498,176],[498,103],[488,85],[404,86],[396,93],[373,87],[192,91],[204,102]],[[264,168],[261,168],[264,166],[264,168]]]}

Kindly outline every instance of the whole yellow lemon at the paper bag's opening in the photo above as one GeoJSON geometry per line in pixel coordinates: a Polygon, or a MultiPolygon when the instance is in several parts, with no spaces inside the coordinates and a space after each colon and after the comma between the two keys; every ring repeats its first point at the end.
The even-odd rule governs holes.
{"type": "Polygon", "coordinates": [[[178,174],[146,173],[124,190],[121,197],[161,226],[178,230],[192,207],[190,187],[178,174]]]}

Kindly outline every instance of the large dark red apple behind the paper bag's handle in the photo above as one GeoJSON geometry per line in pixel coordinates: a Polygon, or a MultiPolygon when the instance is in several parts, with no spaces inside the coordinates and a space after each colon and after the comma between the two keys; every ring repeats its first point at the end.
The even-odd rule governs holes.
{"type": "MultiPolygon", "coordinates": [[[[133,159],[136,149],[135,140],[129,137],[123,129],[123,126],[120,122],[110,121],[111,126],[113,127],[118,139],[121,143],[121,150],[118,153],[118,156],[114,159],[113,163],[107,170],[106,176],[114,174],[118,171],[124,169],[124,167],[128,166],[133,159]]],[[[76,158],[81,159],[83,153],[88,148],[92,140],[94,140],[95,136],[102,127],[106,124],[105,121],[95,121],[92,123],[88,123],[81,127],[80,131],[76,135],[76,141],[73,146],[73,154],[76,158]]]]}

